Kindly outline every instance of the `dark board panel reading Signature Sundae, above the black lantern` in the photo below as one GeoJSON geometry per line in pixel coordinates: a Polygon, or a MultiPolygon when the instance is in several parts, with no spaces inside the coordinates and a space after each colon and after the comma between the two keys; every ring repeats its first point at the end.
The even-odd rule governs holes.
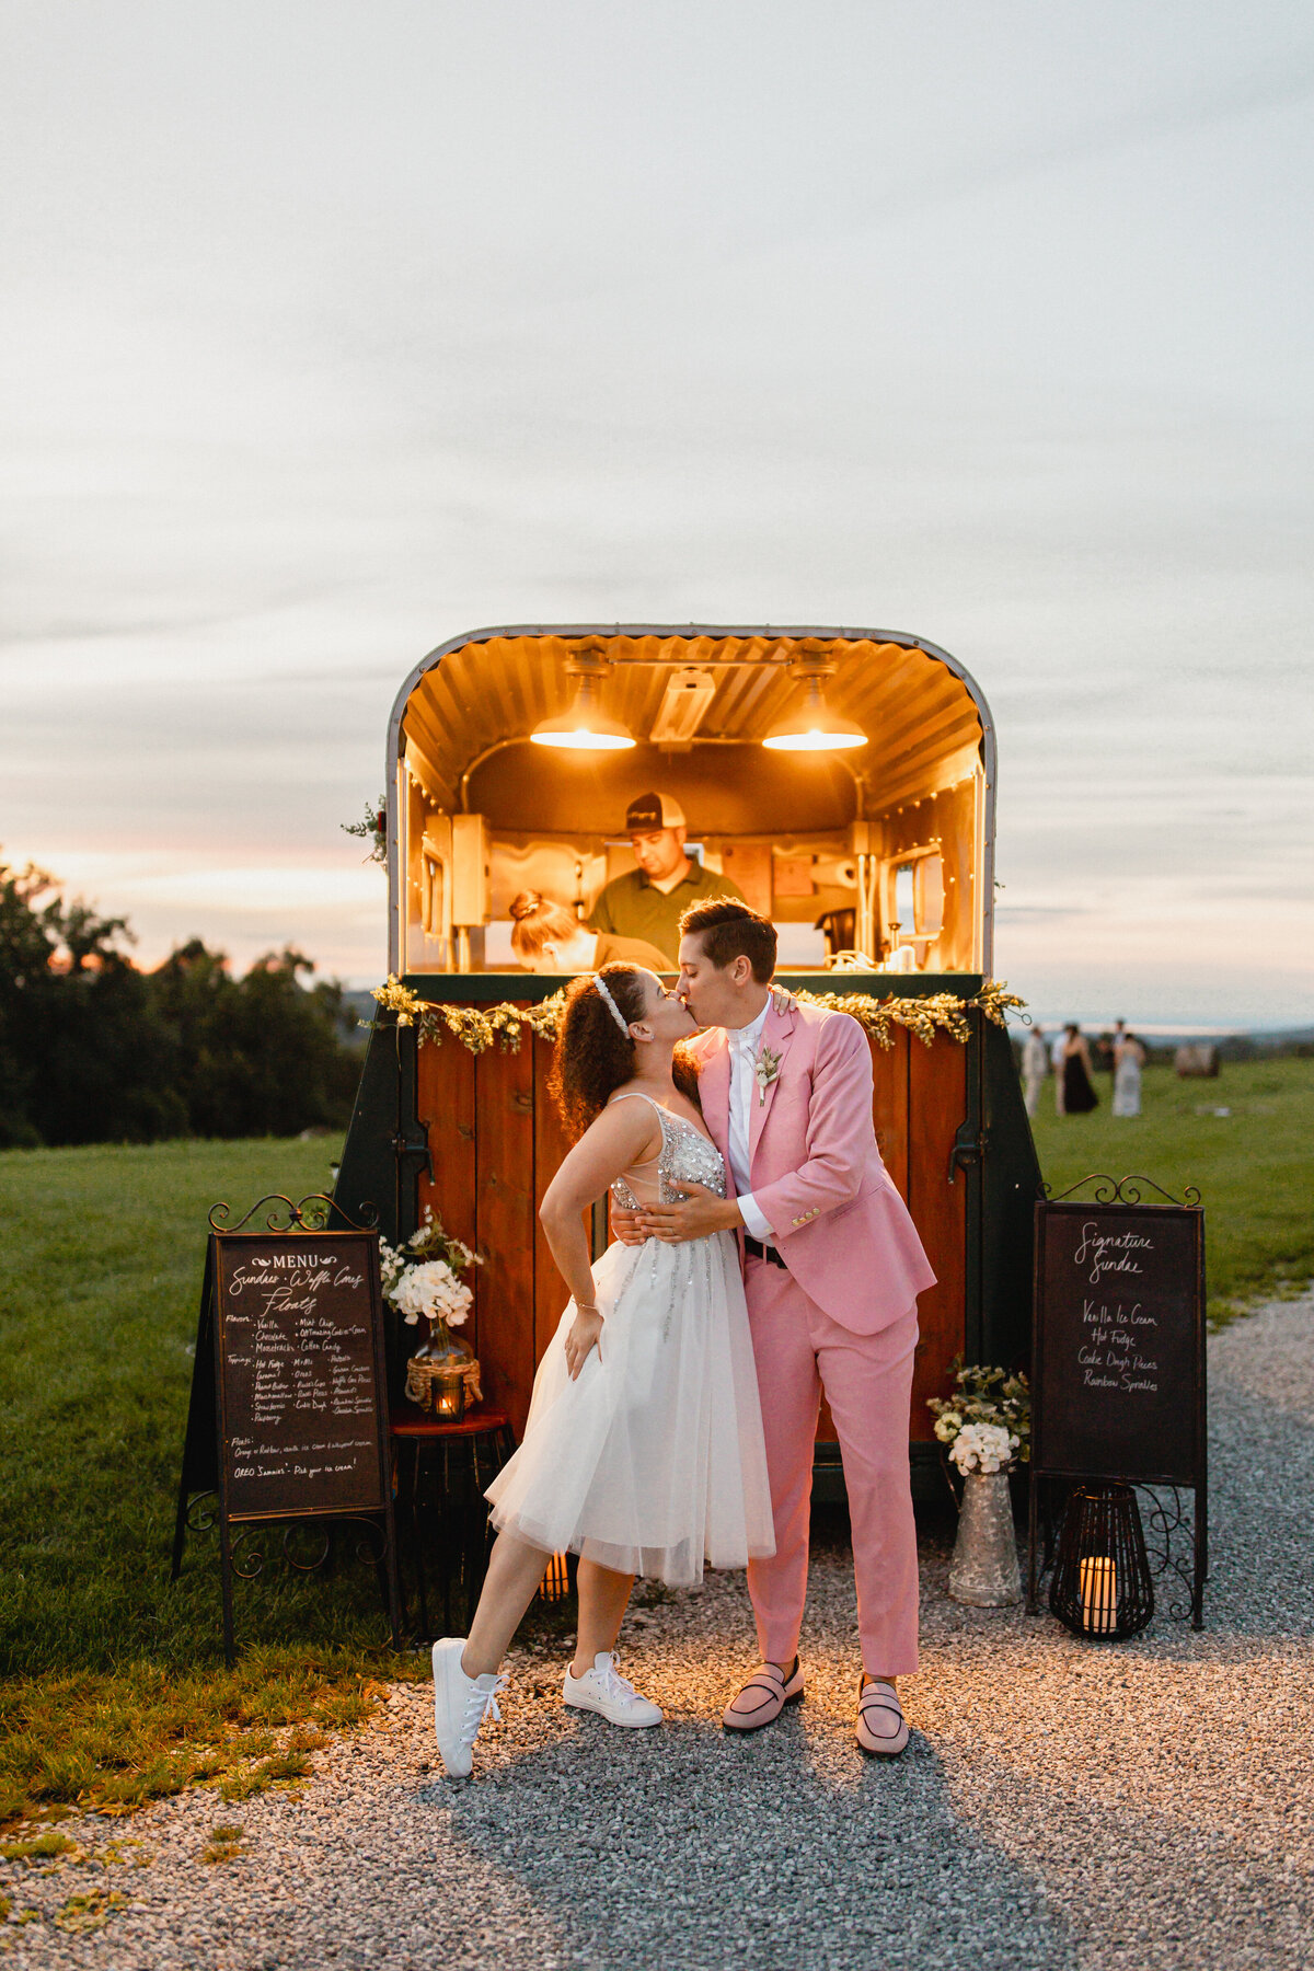
{"type": "Polygon", "coordinates": [[[1204,1212],[1038,1204],[1032,1459],[1194,1484],[1204,1459],[1204,1212]]]}

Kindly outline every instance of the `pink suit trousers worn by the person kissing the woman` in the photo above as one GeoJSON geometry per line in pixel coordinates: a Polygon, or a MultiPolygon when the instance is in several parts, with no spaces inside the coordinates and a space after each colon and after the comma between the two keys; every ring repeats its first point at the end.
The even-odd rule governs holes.
{"type": "Polygon", "coordinates": [[[812,1455],[825,1390],[849,1494],[863,1669],[908,1675],[918,1665],[918,1549],[908,1476],[916,1307],[879,1334],[853,1334],[766,1259],[745,1261],[745,1291],[776,1522],[772,1559],[749,1561],[762,1660],[788,1667],[798,1654],[812,1455]]]}

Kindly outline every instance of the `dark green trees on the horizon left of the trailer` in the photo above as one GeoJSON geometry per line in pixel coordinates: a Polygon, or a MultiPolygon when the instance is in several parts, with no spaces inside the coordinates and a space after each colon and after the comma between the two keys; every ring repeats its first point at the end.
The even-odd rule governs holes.
{"type": "Polygon", "coordinates": [[[154,1143],[345,1127],[355,1011],[270,952],[234,978],[191,938],[154,972],[122,917],[0,861],[0,1145],[154,1143]]]}

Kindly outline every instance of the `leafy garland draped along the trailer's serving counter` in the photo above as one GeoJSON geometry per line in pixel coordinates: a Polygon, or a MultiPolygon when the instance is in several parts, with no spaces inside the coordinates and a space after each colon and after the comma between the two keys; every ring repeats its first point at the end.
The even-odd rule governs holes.
{"type": "MultiPolygon", "coordinates": [[[[443,1029],[455,1033],[461,1047],[471,1054],[487,1054],[496,1043],[502,1053],[518,1054],[520,1037],[528,1027],[540,1041],[556,1041],[558,1023],[565,1011],[565,989],[554,991],[538,1005],[520,1007],[502,999],[500,1005],[449,1005],[441,999],[422,999],[404,986],[396,972],[388,974],[384,986],[374,987],[374,997],[386,1013],[396,1013],[398,1027],[416,1027],[420,1047],[426,1041],[439,1045],[443,1029]]],[[[971,999],[959,999],[952,991],[932,993],[928,999],[871,999],[861,991],[794,991],[794,999],[806,1005],[825,1007],[827,1013],[851,1013],[859,1027],[877,1041],[879,1047],[894,1045],[894,1027],[916,1033],[926,1047],[938,1033],[948,1033],[953,1041],[971,1039],[967,1015],[975,1009],[997,1027],[1007,1025],[1011,1011],[1022,1011],[1024,999],[1009,991],[1007,984],[987,980],[971,999]]],[[[368,1025],[368,1021],[364,1021],[368,1025]]]]}

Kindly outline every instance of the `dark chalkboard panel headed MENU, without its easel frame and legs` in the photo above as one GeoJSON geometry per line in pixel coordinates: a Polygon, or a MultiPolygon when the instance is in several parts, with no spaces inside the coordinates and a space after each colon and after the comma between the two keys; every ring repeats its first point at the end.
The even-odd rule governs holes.
{"type": "Polygon", "coordinates": [[[229,1520],[382,1512],[378,1238],[215,1238],[229,1520]]]}

